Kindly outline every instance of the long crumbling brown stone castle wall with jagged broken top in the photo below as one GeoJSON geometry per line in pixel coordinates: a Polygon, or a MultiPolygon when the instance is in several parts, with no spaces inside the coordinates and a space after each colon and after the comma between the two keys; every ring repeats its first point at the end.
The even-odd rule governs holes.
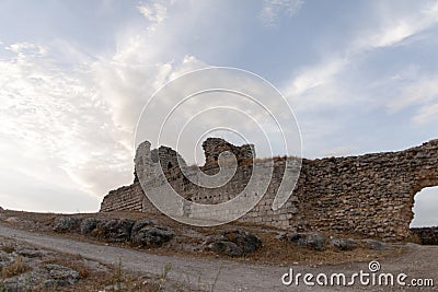
{"type": "MultiPolygon", "coordinates": [[[[186,200],[217,205],[240,194],[253,175],[253,166],[265,163],[264,160],[255,159],[254,147],[251,144],[235,147],[223,139],[208,138],[203,148],[206,163],[200,171],[210,176],[219,172],[221,159],[227,161],[227,155],[221,153],[234,154],[235,173],[226,185],[205,188],[194,184],[193,177],[188,179],[187,173],[180,168],[184,161],[174,150],[166,147],[150,150],[149,142],[140,144],[137,150],[136,168],[138,157],[146,155],[151,163],[160,162],[163,177],[186,200]]],[[[286,161],[287,157],[274,157],[273,175],[266,192],[254,194],[264,196],[255,208],[239,219],[240,222],[300,232],[404,240],[411,236],[410,223],[415,195],[423,188],[438,186],[438,140],[397,152],[303,159],[292,195],[281,208],[273,210],[286,161]]],[[[157,191],[160,190],[160,184],[157,183],[157,191]]],[[[137,173],[131,185],[112,190],[103,199],[101,211],[118,210],[160,212],[145,195],[137,173]]],[[[182,205],[181,215],[203,218],[206,214],[194,213],[182,205]]]]}

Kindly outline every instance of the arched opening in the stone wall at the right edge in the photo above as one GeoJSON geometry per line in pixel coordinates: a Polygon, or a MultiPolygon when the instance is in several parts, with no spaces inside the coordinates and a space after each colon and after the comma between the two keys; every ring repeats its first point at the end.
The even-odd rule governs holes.
{"type": "Polygon", "coordinates": [[[415,195],[413,212],[411,231],[422,244],[438,245],[438,187],[427,187],[415,195]]]}

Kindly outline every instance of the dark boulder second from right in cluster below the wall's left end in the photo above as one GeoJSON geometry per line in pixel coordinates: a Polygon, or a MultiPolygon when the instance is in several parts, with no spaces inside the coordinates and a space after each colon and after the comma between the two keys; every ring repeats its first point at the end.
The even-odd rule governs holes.
{"type": "Polygon", "coordinates": [[[103,220],[93,233],[108,242],[127,242],[134,224],[135,221],[130,219],[103,220]]]}

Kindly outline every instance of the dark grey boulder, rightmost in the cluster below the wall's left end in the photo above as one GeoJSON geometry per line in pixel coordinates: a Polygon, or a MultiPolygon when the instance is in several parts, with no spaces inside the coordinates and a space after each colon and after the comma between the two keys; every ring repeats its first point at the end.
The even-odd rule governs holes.
{"type": "Polygon", "coordinates": [[[135,229],[132,227],[131,242],[134,244],[140,246],[161,246],[171,241],[175,235],[169,227],[150,226],[150,224],[145,223],[139,223],[137,226],[135,225],[135,229]]]}

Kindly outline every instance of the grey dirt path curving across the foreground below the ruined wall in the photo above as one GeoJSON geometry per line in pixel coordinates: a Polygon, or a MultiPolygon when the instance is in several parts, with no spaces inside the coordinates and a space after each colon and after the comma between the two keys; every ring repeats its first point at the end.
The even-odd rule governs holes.
{"type": "MultiPolygon", "coordinates": [[[[32,233],[22,230],[14,230],[0,224],[0,235],[28,242],[46,248],[64,253],[80,254],[83,257],[107,264],[116,264],[119,259],[124,267],[140,272],[161,275],[163,267],[172,265],[169,277],[189,282],[198,288],[211,287],[214,291],[388,291],[400,290],[400,287],[392,289],[382,287],[355,285],[353,289],[343,287],[306,287],[300,279],[300,284],[286,287],[281,283],[281,276],[289,270],[289,267],[266,266],[244,264],[223,259],[199,259],[174,256],[158,256],[145,252],[128,248],[95,245],[79,241],[67,240],[57,236],[32,233]],[[217,280],[216,280],[217,279],[217,280]]],[[[380,262],[381,272],[399,275],[404,272],[412,278],[431,278],[435,288],[425,288],[422,291],[438,290],[438,246],[410,245],[408,253],[403,257],[391,258],[380,262]]],[[[368,262],[353,262],[336,266],[306,267],[291,265],[295,275],[298,272],[311,272],[332,275],[345,272],[348,277],[354,272],[369,272],[368,262]]],[[[347,278],[349,279],[349,278],[347,278]]],[[[314,279],[313,279],[314,281],[314,279]]],[[[357,280],[358,282],[358,280],[357,280]]],[[[418,287],[405,288],[406,291],[418,291],[418,287]]]]}

